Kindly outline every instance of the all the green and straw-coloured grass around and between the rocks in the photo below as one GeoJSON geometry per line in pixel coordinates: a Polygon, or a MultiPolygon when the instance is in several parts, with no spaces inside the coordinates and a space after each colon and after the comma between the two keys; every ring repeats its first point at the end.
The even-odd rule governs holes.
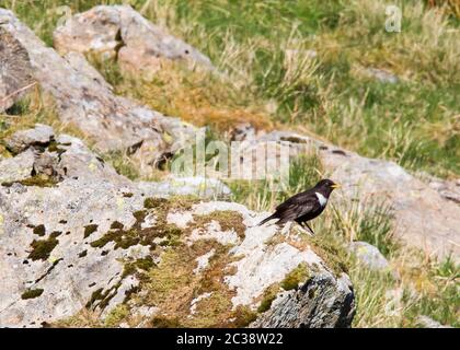
{"type": "MultiPolygon", "coordinates": [[[[384,3],[375,0],[124,2],[208,55],[222,75],[172,65],[151,80],[140,80],[123,77],[115,63],[97,65],[117,93],[208,125],[217,137],[249,120],[257,128],[315,135],[413,172],[459,177],[458,1],[444,7],[427,4],[441,1],[392,1],[403,10],[401,33],[384,31],[384,3]],[[399,82],[380,82],[368,74],[369,68],[391,71],[399,82]]],[[[68,11],[62,5],[76,13],[113,3],[122,1],[0,0],[0,7],[12,9],[48,45],[68,11]]],[[[58,127],[46,98],[34,96],[10,112],[0,119],[0,138],[35,121],[58,127]]],[[[66,131],[84,138],[78,130],[66,131]]],[[[123,174],[138,176],[123,154],[107,160],[123,174]]],[[[319,172],[313,154],[292,163],[286,192],[274,194],[265,183],[230,186],[235,201],[269,210],[312,185],[319,172]]],[[[355,326],[416,326],[421,314],[459,326],[459,267],[402,247],[391,235],[388,209],[332,208],[314,229],[322,232],[319,244],[347,264],[357,295],[355,326]],[[378,246],[399,278],[360,267],[345,250],[353,240],[378,246]]]]}

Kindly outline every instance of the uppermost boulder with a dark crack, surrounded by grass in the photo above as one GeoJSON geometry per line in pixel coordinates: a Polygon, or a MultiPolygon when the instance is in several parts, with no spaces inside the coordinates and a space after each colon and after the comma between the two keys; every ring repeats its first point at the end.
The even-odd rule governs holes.
{"type": "Polygon", "coordinates": [[[56,49],[115,58],[129,71],[154,74],[162,60],[212,69],[206,56],[150,23],[128,5],[100,5],[76,14],[54,33],[56,49]]]}

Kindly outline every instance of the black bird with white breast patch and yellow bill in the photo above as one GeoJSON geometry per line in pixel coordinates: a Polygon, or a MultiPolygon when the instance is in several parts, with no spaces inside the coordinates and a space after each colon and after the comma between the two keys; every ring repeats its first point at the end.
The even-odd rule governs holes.
{"type": "Polygon", "coordinates": [[[258,226],[273,219],[278,219],[276,222],[277,225],[285,224],[288,221],[296,221],[302,228],[303,225],[307,225],[310,232],[314,234],[307,221],[317,218],[323,212],[327,205],[329,196],[338,187],[341,187],[338,184],[335,184],[327,178],[322,179],[313,188],[297,194],[280,203],[276,207],[275,213],[262,220],[258,223],[258,226]]]}

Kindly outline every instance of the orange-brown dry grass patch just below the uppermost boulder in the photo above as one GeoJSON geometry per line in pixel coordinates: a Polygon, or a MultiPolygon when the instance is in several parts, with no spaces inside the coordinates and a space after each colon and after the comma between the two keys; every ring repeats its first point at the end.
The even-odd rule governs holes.
{"type": "Polygon", "coordinates": [[[117,92],[130,95],[154,110],[219,132],[250,122],[256,129],[272,129],[265,108],[249,105],[225,80],[212,72],[189,71],[181,63],[162,62],[163,67],[149,80],[125,74],[117,92]]]}

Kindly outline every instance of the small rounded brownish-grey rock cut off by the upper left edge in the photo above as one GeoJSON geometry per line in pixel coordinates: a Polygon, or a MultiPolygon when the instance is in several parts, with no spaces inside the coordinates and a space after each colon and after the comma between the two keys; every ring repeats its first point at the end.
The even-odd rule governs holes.
{"type": "Polygon", "coordinates": [[[0,27],[0,112],[11,107],[33,83],[27,51],[0,27]]]}

